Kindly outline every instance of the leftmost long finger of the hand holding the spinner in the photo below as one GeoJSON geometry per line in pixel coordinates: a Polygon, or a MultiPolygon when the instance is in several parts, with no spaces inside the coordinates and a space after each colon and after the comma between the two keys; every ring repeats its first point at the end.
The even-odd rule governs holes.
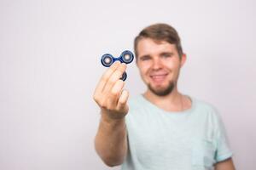
{"type": "Polygon", "coordinates": [[[101,80],[98,82],[98,84],[96,85],[96,90],[95,90],[95,94],[99,94],[102,93],[103,88],[105,86],[105,84],[108,82],[108,78],[111,77],[111,75],[113,74],[113,71],[115,71],[119,65],[120,65],[120,61],[115,61],[113,63],[113,65],[111,65],[107,71],[104,72],[104,74],[101,77],[101,80]]]}

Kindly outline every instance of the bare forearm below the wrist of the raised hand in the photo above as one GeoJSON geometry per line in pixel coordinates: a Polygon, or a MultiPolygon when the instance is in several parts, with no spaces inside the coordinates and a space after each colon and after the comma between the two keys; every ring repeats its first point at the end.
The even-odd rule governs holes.
{"type": "Polygon", "coordinates": [[[127,153],[125,117],[109,120],[102,115],[95,139],[96,152],[110,167],[121,164],[127,153]]]}

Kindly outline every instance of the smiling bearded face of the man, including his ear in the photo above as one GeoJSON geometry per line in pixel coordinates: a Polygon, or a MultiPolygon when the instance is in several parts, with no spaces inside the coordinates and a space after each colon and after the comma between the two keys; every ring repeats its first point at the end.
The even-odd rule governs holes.
{"type": "Polygon", "coordinates": [[[180,58],[176,45],[169,42],[143,38],[137,43],[137,67],[148,89],[156,95],[172,93],[185,59],[186,55],[180,58]]]}

